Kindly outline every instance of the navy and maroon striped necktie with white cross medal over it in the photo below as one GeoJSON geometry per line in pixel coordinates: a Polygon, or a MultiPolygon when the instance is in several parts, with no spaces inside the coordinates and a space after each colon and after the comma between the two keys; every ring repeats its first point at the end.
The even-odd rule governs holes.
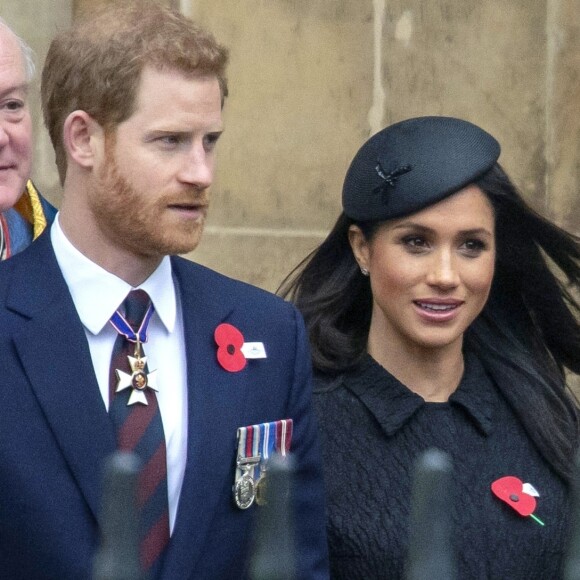
{"type": "Polygon", "coordinates": [[[119,332],[109,372],[109,415],[117,447],[137,454],[142,462],[137,503],[141,515],[140,554],[143,569],[159,564],[169,542],[167,461],[161,413],[141,342],[147,340],[152,304],[143,290],[133,290],[111,323],[119,332]],[[143,364],[144,363],[144,364],[143,364]]]}

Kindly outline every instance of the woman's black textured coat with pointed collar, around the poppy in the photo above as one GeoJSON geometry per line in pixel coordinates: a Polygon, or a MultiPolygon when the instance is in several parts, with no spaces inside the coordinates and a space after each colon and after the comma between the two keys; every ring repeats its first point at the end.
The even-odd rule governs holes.
{"type": "Polygon", "coordinates": [[[471,356],[447,403],[426,403],[368,356],[351,373],[317,377],[332,578],[403,577],[414,461],[436,447],[453,461],[459,578],[560,578],[568,491],[471,356]],[[490,485],[513,475],[539,492],[520,516],[490,485]]]}

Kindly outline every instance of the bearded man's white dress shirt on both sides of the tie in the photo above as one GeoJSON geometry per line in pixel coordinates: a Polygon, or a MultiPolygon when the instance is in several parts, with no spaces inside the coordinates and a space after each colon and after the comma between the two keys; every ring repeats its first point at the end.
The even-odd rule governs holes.
{"type": "MultiPolygon", "coordinates": [[[[109,366],[117,332],[109,319],[135,288],[79,252],[67,239],[58,215],[50,232],[58,265],[68,285],[91,351],[95,375],[109,408],[109,366]]],[[[181,301],[165,257],[139,287],[155,306],[143,345],[147,366],[157,370],[157,401],[167,445],[169,529],[173,532],[187,456],[187,361],[181,301]]]]}

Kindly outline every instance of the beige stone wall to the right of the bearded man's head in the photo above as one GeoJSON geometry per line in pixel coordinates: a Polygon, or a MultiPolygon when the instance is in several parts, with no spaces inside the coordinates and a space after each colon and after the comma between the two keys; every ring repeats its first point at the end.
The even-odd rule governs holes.
{"type": "Polygon", "coordinates": [[[212,210],[192,259],[274,290],[335,221],[360,144],[429,114],[493,133],[527,199],[580,233],[580,0],[166,4],[231,50],[212,210]]]}

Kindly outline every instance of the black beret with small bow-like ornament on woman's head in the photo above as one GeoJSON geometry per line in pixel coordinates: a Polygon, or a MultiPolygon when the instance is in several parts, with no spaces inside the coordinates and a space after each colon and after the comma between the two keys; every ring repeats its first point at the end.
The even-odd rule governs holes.
{"type": "Polygon", "coordinates": [[[402,217],[459,191],[497,161],[499,143],[452,117],[418,117],[386,127],[355,155],[342,189],[357,221],[402,217]]]}

